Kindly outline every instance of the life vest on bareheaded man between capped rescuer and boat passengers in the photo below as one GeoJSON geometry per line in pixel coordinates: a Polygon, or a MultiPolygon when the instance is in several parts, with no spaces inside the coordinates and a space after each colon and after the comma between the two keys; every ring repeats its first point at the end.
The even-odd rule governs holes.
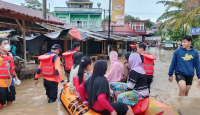
{"type": "Polygon", "coordinates": [[[65,52],[62,55],[65,57],[65,70],[71,70],[72,66],[73,66],[73,55],[74,53],[76,53],[77,51],[72,51],[72,52],[65,52]]]}

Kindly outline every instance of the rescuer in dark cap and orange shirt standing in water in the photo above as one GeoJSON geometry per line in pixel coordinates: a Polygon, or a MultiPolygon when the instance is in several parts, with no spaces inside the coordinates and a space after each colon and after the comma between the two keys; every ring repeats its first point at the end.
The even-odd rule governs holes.
{"type": "Polygon", "coordinates": [[[59,82],[63,83],[63,86],[65,85],[61,73],[60,57],[58,56],[61,51],[61,46],[54,44],[49,53],[38,57],[41,62],[35,75],[35,86],[37,86],[38,79],[42,74],[46,95],[49,98],[48,103],[56,101],[59,82]]]}

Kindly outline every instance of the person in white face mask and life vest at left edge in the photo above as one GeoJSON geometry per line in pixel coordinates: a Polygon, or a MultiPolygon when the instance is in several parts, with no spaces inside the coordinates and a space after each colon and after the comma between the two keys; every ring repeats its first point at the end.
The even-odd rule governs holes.
{"type": "Polygon", "coordinates": [[[6,38],[0,38],[0,105],[12,104],[15,100],[15,87],[13,78],[18,81],[15,73],[15,65],[10,52],[10,45],[6,38]]]}

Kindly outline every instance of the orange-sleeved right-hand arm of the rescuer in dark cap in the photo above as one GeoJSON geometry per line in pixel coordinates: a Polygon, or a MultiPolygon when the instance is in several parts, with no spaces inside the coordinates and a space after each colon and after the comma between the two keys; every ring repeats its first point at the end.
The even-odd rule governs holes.
{"type": "Polygon", "coordinates": [[[56,72],[56,76],[59,79],[59,81],[61,83],[63,83],[64,79],[63,79],[62,72],[61,72],[60,57],[57,57],[55,60],[55,72],[56,72]]]}

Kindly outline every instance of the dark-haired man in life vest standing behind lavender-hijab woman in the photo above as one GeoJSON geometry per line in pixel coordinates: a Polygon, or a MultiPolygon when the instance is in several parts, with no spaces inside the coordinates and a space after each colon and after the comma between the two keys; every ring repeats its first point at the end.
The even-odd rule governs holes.
{"type": "Polygon", "coordinates": [[[154,60],[156,60],[156,57],[153,56],[150,53],[145,53],[146,46],[141,43],[137,47],[137,52],[140,54],[140,57],[142,59],[142,66],[145,70],[146,77],[147,77],[147,85],[149,88],[150,93],[150,86],[153,82],[153,74],[154,74],[154,60]]]}

